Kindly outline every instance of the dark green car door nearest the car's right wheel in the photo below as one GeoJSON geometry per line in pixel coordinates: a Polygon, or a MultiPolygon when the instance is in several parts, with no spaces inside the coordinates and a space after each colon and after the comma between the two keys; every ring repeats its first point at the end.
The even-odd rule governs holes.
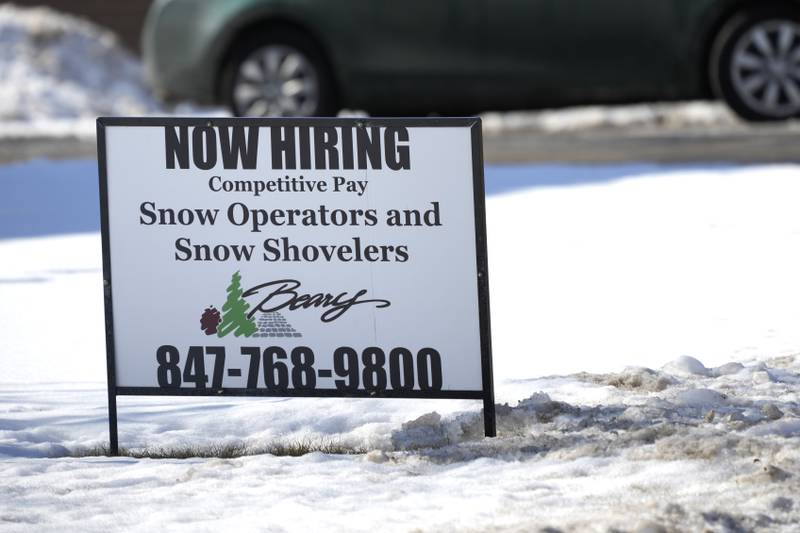
{"type": "Polygon", "coordinates": [[[487,76],[515,105],[626,99],[674,72],[667,0],[486,0],[487,76]]]}

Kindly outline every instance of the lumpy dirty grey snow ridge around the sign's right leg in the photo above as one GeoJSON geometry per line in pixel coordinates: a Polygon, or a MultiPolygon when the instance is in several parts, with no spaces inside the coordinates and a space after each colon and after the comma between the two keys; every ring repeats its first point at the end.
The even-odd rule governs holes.
{"type": "MultiPolygon", "coordinates": [[[[698,453],[713,456],[734,441],[748,443],[746,454],[758,453],[756,448],[780,451],[784,443],[752,437],[800,437],[800,356],[739,365],[739,372],[716,377],[679,377],[631,368],[605,375],[565,376],[557,384],[550,382],[552,378],[542,378],[537,385],[548,393],[535,392],[513,406],[498,405],[501,439],[482,438],[480,413],[443,418],[430,412],[393,432],[392,445],[394,450],[426,450],[430,457],[445,462],[486,456],[507,458],[509,453],[559,458],[601,456],[628,449],[640,459],[663,458],[664,454],[674,459],[698,453]],[[765,368],[780,377],[761,384],[758,373],[765,368]],[[660,375],[666,385],[658,391],[643,382],[631,386],[639,382],[643,372],[660,375]],[[559,389],[563,380],[591,383],[605,397],[602,402],[583,398],[581,404],[556,401],[554,397],[562,396],[559,389]],[[665,437],[671,440],[650,451],[636,448],[665,437]],[[692,442],[706,451],[692,448],[692,442]]],[[[579,398],[573,396],[572,401],[576,400],[579,398]]],[[[800,460],[800,453],[795,459],[800,460]]],[[[794,469],[800,464],[787,466],[794,469]]]]}

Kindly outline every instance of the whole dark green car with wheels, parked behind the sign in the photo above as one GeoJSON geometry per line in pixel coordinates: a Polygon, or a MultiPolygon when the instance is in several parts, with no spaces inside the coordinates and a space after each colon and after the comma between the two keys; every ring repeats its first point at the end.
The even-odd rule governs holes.
{"type": "Polygon", "coordinates": [[[800,0],[156,0],[165,98],[373,115],[718,97],[800,114],[800,0]]]}

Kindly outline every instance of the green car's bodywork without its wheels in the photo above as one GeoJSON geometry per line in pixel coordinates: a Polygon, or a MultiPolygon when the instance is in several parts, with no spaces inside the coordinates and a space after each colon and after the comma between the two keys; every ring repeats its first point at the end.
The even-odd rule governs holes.
{"type": "MultiPolygon", "coordinates": [[[[797,3],[797,2],[795,2],[797,3]]],[[[343,107],[411,114],[708,96],[714,32],[742,0],[157,0],[143,32],[160,93],[219,103],[246,32],[291,26],[343,107]]]]}

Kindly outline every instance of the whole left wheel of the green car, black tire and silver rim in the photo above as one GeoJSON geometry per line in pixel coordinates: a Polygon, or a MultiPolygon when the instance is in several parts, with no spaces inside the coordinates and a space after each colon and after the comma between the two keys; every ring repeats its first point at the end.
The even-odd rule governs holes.
{"type": "Polygon", "coordinates": [[[222,102],[236,116],[332,116],[333,76],[322,51],[299,32],[266,30],[237,42],[222,69],[222,102]]]}

